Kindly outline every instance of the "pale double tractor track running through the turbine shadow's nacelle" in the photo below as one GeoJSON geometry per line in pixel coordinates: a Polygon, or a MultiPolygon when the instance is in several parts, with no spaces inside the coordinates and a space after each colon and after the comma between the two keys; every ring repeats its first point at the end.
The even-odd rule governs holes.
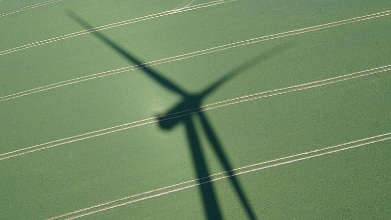
{"type": "Polygon", "coordinates": [[[224,107],[224,106],[228,106],[228,105],[252,101],[252,100],[256,100],[256,99],[260,99],[260,98],[272,97],[272,96],[276,96],[276,95],[282,95],[282,94],[301,91],[301,90],[305,90],[305,89],[316,88],[316,87],[334,84],[337,82],[350,80],[350,79],[354,79],[354,78],[358,78],[358,77],[364,77],[364,76],[373,75],[376,73],[387,72],[390,70],[391,70],[391,65],[387,65],[387,66],[376,67],[376,68],[372,68],[369,70],[363,70],[363,71],[359,71],[359,72],[355,72],[355,73],[326,78],[326,79],[322,79],[322,80],[306,82],[306,83],[298,84],[295,86],[283,87],[280,89],[268,90],[268,91],[263,91],[263,92],[254,93],[254,94],[250,94],[250,95],[240,96],[240,97],[233,98],[233,99],[227,99],[224,101],[214,102],[211,104],[203,105],[198,108],[191,108],[191,109],[187,109],[185,111],[172,113],[169,115],[161,115],[161,116],[157,116],[157,117],[151,117],[151,118],[147,118],[147,119],[143,119],[143,120],[129,122],[129,123],[113,126],[113,127],[104,128],[101,130],[78,134],[75,136],[66,137],[64,139],[59,139],[59,140],[46,142],[43,144],[34,145],[31,147],[22,148],[22,149],[14,150],[11,152],[3,153],[3,154],[0,154],[0,156],[3,156],[3,157],[0,157],[0,161],[8,159],[8,158],[24,155],[27,153],[32,153],[35,151],[40,151],[40,150],[44,150],[44,149],[48,149],[48,148],[52,148],[52,147],[57,147],[57,146],[61,146],[61,145],[65,145],[65,144],[69,144],[69,143],[73,143],[73,142],[91,139],[93,137],[102,136],[102,135],[109,134],[109,133],[114,133],[114,132],[118,132],[118,131],[122,131],[122,130],[127,130],[127,129],[131,129],[131,128],[139,127],[139,126],[144,126],[144,125],[156,123],[159,121],[171,120],[171,119],[184,117],[184,116],[192,115],[192,114],[199,113],[199,112],[209,111],[209,110],[212,110],[215,108],[220,108],[220,107],[224,107]]]}

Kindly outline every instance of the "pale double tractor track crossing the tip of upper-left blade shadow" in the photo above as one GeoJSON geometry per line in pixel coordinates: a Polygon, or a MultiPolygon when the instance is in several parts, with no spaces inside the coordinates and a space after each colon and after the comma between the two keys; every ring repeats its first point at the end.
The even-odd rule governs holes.
{"type": "Polygon", "coordinates": [[[162,16],[166,16],[166,15],[172,15],[172,14],[176,14],[176,13],[180,13],[180,12],[191,11],[191,10],[195,10],[195,9],[200,9],[200,8],[220,5],[220,4],[223,4],[223,3],[229,3],[229,2],[233,2],[233,1],[237,1],[237,0],[218,0],[218,1],[203,3],[203,4],[199,4],[199,5],[189,6],[187,8],[173,9],[173,10],[169,10],[169,11],[164,11],[164,12],[159,12],[159,13],[155,13],[155,14],[145,15],[145,16],[142,16],[142,17],[132,18],[132,19],[124,20],[124,21],[119,21],[119,22],[115,22],[115,23],[105,24],[105,25],[98,26],[96,28],[91,28],[91,29],[87,29],[87,30],[73,32],[73,33],[70,33],[70,34],[61,35],[61,36],[58,36],[58,37],[49,38],[49,39],[46,39],[46,40],[37,41],[37,42],[34,42],[34,43],[25,44],[25,45],[17,46],[17,47],[14,47],[14,48],[6,49],[6,50],[3,50],[3,51],[0,51],[0,56],[5,55],[7,53],[16,52],[16,51],[19,51],[19,50],[24,50],[24,49],[27,49],[27,48],[36,47],[36,46],[40,46],[40,45],[43,45],[43,44],[47,44],[47,43],[51,43],[51,42],[55,42],[55,41],[59,41],[59,40],[65,40],[65,39],[68,39],[68,38],[71,38],[71,37],[85,35],[85,34],[89,34],[89,33],[96,32],[96,31],[102,31],[102,30],[105,30],[105,29],[115,28],[117,26],[122,26],[122,25],[130,24],[130,23],[135,23],[135,22],[139,22],[139,21],[149,20],[149,19],[152,19],[152,18],[162,17],[162,16]]]}

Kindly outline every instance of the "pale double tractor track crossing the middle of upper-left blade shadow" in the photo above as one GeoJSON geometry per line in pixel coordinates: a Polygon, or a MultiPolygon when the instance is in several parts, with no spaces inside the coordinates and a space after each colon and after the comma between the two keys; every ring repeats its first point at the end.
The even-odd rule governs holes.
{"type": "MultiPolygon", "coordinates": [[[[198,56],[202,56],[204,54],[222,51],[222,50],[235,48],[235,47],[239,47],[239,46],[244,46],[244,45],[248,45],[248,44],[254,44],[254,43],[258,43],[258,42],[262,42],[262,41],[283,38],[283,37],[288,37],[288,36],[293,36],[293,35],[313,32],[313,31],[318,31],[318,30],[322,30],[322,29],[331,28],[334,26],[339,26],[339,25],[358,22],[358,21],[364,21],[364,20],[373,19],[373,18],[382,17],[382,16],[388,16],[388,15],[391,15],[391,10],[385,11],[385,12],[379,12],[379,13],[375,13],[375,14],[370,14],[370,15],[365,15],[365,16],[360,16],[360,17],[356,17],[356,18],[351,18],[351,19],[346,19],[346,20],[311,26],[309,28],[298,29],[298,30],[288,31],[288,32],[282,32],[282,33],[278,33],[278,34],[257,37],[257,38],[248,39],[248,40],[244,40],[244,41],[238,41],[235,43],[216,46],[216,47],[212,47],[212,48],[208,48],[208,49],[203,49],[203,50],[194,51],[194,52],[190,52],[190,53],[180,54],[178,56],[174,56],[174,57],[170,57],[170,58],[147,62],[147,63],[144,63],[143,65],[144,66],[155,66],[155,65],[170,63],[170,62],[174,62],[174,61],[180,61],[180,60],[189,59],[192,57],[198,57],[198,56]]],[[[81,76],[78,78],[73,78],[73,79],[69,79],[69,80],[65,80],[65,81],[61,81],[61,82],[56,82],[54,84],[50,84],[50,85],[46,85],[46,86],[42,86],[42,87],[37,87],[37,88],[31,89],[31,90],[26,90],[26,91],[14,93],[14,94],[7,95],[7,96],[2,96],[2,97],[0,97],[0,102],[14,99],[14,98],[18,98],[18,97],[23,97],[26,95],[31,95],[31,94],[38,93],[38,92],[43,92],[43,91],[54,89],[54,88],[59,88],[59,87],[67,86],[67,85],[76,84],[76,83],[82,82],[82,81],[87,81],[87,80],[91,80],[91,79],[95,79],[95,78],[115,75],[115,74],[128,72],[128,71],[132,71],[132,70],[136,70],[136,69],[140,69],[140,68],[141,68],[140,66],[134,65],[134,66],[123,67],[123,68],[119,68],[119,69],[115,69],[115,70],[108,70],[105,72],[95,73],[95,74],[91,74],[91,75],[81,76]]]]}

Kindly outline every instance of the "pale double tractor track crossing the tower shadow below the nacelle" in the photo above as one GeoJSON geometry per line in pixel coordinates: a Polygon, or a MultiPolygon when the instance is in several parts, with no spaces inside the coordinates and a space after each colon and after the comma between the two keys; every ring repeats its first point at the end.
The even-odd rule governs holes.
{"type": "Polygon", "coordinates": [[[123,198],[120,198],[120,199],[111,200],[111,201],[108,201],[108,202],[105,202],[105,203],[101,203],[101,204],[98,204],[98,205],[94,205],[94,206],[90,206],[90,207],[87,207],[87,208],[79,209],[79,210],[76,210],[76,211],[73,211],[73,212],[67,212],[67,213],[64,213],[64,214],[61,214],[61,215],[57,215],[57,216],[48,218],[46,220],[53,220],[53,219],[58,219],[58,218],[62,218],[62,217],[67,217],[69,215],[74,215],[74,214],[77,214],[77,213],[80,213],[80,212],[84,212],[84,211],[88,211],[88,210],[91,210],[91,209],[94,209],[94,208],[99,208],[99,207],[102,207],[102,206],[105,206],[105,205],[110,205],[110,204],[121,202],[121,201],[124,201],[124,200],[129,200],[129,199],[132,199],[132,198],[135,198],[135,197],[156,193],[156,192],[162,191],[164,189],[170,189],[170,188],[173,188],[173,187],[176,187],[176,186],[182,186],[182,185],[185,185],[185,184],[188,184],[188,183],[191,183],[191,182],[199,181],[199,183],[196,183],[196,184],[191,184],[191,185],[187,185],[187,186],[183,186],[183,187],[179,187],[179,188],[175,188],[175,189],[170,189],[170,190],[164,191],[162,193],[158,193],[158,194],[154,194],[154,195],[151,195],[151,196],[142,197],[142,198],[139,198],[139,199],[134,199],[134,200],[123,202],[123,203],[120,203],[120,204],[117,204],[117,205],[111,205],[111,206],[106,207],[106,208],[100,208],[98,210],[90,211],[88,213],[79,214],[77,216],[73,216],[73,217],[67,218],[67,220],[75,219],[75,218],[86,216],[86,215],[90,215],[90,214],[93,214],[93,213],[96,213],[96,212],[101,212],[101,211],[105,211],[105,210],[108,210],[108,209],[113,209],[113,208],[116,208],[116,207],[119,207],[119,206],[123,206],[123,205],[131,204],[131,203],[143,201],[143,200],[150,199],[150,198],[155,198],[155,197],[166,195],[166,194],[170,194],[170,193],[174,193],[175,191],[180,191],[180,190],[191,188],[191,187],[198,186],[198,185],[201,185],[201,184],[214,182],[214,181],[217,181],[217,180],[220,180],[220,179],[226,179],[226,178],[229,178],[229,177],[232,177],[232,176],[238,176],[238,175],[242,175],[242,174],[245,174],[245,173],[250,173],[250,172],[254,172],[254,171],[264,170],[264,169],[267,169],[267,168],[281,166],[281,165],[287,164],[287,163],[292,163],[292,162],[296,162],[296,161],[301,161],[301,160],[305,160],[305,159],[319,157],[319,156],[323,156],[323,155],[327,155],[327,154],[331,154],[331,153],[336,153],[336,152],[340,152],[340,151],[344,151],[344,150],[348,150],[348,149],[353,149],[353,148],[357,148],[357,147],[361,147],[361,146],[366,146],[366,145],[370,145],[370,144],[374,144],[374,143],[378,143],[378,142],[387,141],[387,140],[390,140],[390,139],[391,139],[391,132],[384,133],[384,134],[379,134],[379,135],[375,135],[375,136],[371,136],[371,137],[367,137],[365,139],[350,141],[350,142],[347,142],[347,143],[344,143],[344,144],[338,144],[338,145],[334,145],[334,146],[331,146],[331,147],[325,147],[325,148],[321,148],[321,149],[317,149],[317,150],[307,151],[307,152],[303,152],[303,153],[299,153],[299,154],[294,154],[294,155],[285,156],[285,157],[272,159],[272,160],[268,160],[268,161],[263,161],[263,162],[259,162],[259,163],[255,163],[255,164],[250,164],[250,165],[239,167],[239,168],[236,168],[236,169],[233,169],[233,170],[230,170],[230,171],[224,171],[224,172],[215,173],[215,174],[203,177],[203,178],[192,179],[192,180],[188,180],[188,181],[185,181],[185,182],[181,182],[181,183],[177,183],[177,184],[173,184],[173,185],[169,185],[169,186],[153,189],[153,190],[150,190],[150,191],[145,191],[143,193],[135,194],[135,195],[132,195],[132,196],[127,196],[127,197],[123,197],[123,198]],[[367,142],[365,142],[365,141],[367,141],[367,142]],[[364,143],[362,143],[362,142],[364,142],[364,143]],[[357,144],[357,143],[359,143],[359,144],[357,144]],[[353,145],[353,144],[355,144],[355,145],[353,145]],[[352,145],[352,146],[349,146],[349,145],[352,145]],[[344,147],[344,146],[348,146],[348,147],[344,147]],[[341,147],[343,147],[343,148],[341,148],[341,147]],[[331,151],[326,151],[326,150],[331,150],[331,151]],[[319,152],[322,152],[322,151],[326,151],[326,152],[319,153],[319,152]],[[315,153],[318,153],[318,154],[315,154],[315,153]],[[309,156],[306,156],[306,155],[309,155],[309,156]],[[305,156],[305,157],[300,157],[300,156],[305,156]],[[295,157],[299,157],[299,158],[288,160],[288,161],[284,161],[284,160],[295,158],[295,157]],[[282,162],[280,162],[280,161],[282,161],[282,162]],[[268,166],[259,167],[261,165],[272,163],[272,162],[278,162],[278,163],[270,164],[268,166]],[[259,168],[257,168],[257,167],[259,167],[259,168]],[[245,169],[248,169],[248,168],[252,168],[252,169],[245,170],[245,169]],[[244,170],[244,171],[242,171],[242,170],[244,170]],[[240,172],[234,173],[235,171],[240,171],[240,172]],[[207,179],[207,178],[210,178],[210,177],[216,177],[216,176],[221,176],[221,177],[217,177],[217,178],[209,180],[209,181],[200,182],[200,180],[207,179]]]}

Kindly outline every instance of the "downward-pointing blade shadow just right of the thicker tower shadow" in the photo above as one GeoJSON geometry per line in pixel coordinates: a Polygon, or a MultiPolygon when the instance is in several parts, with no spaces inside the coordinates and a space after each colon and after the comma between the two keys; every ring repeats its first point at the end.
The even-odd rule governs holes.
{"type": "Polygon", "coordinates": [[[242,190],[242,187],[240,186],[239,181],[237,180],[236,176],[232,176],[234,173],[232,172],[233,168],[226,156],[226,153],[224,152],[224,149],[222,148],[220,141],[218,140],[215,132],[213,131],[211,125],[209,124],[208,119],[204,115],[203,112],[198,113],[201,124],[204,127],[205,134],[208,137],[208,140],[210,144],[212,145],[212,149],[214,150],[215,154],[218,156],[222,166],[224,167],[225,171],[228,171],[228,175],[231,177],[229,178],[231,181],[231,184],[236,190],[236,194],[239,197],[240,202],[242,203],[242,206],[244,207],[249,219],[255,220],[257,219],[255,212],[253,211],[250,204],[247,202],[248,199],[246,198],[246,195],[244,194],[244,191],[242,190]]]}

